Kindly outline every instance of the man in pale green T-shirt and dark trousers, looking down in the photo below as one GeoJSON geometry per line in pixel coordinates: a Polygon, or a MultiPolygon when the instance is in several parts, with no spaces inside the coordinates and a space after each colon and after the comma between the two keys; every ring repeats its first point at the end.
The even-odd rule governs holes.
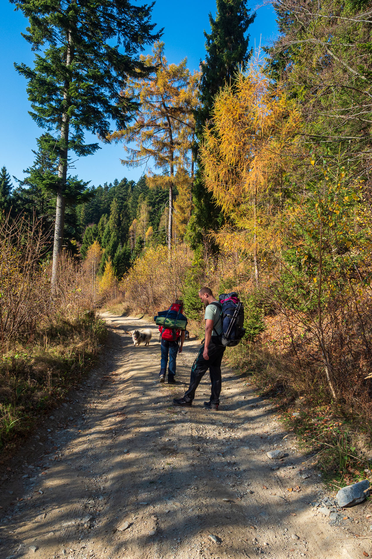
{"type": "Polygon", "coordinates": [[[204,402],[205,408],[218,410],[221,394],[221,361],[225,347],[220,345],[222,334],[221,304],[215,299],[209,287],[202,287],[199,291],[199,299],[205,305],[205,339],[193,366],[191,367],[190,386],[183,398],[174,399],[176,406],[191,406],[195,398],[195,390],[199,382],[209,369],[212,383],[209,402],[204,402]]]}

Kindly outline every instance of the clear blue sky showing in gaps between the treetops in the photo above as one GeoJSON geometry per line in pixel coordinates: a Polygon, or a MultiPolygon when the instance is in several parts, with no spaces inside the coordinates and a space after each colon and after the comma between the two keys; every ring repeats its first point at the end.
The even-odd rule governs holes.
{"type": "MultiPolygon", "coordinates": [[[[254,11],[256,4],[249,3],[254,11]]],[[[187,56],[191,70],[199,68],[200,59],[204,58],[204,29],[209,31],[209,12],[215,15],[215,0],[157,0],[153,9],[153,21],[158,27],[164,27],[162,40],[166,46],[168,61],[178,63],[187,56]]],[[[30,104],[26,94],[26,80],[16,73],[13,63],[24,62],[32,65],[33,54],[30,45],[23,39],[27,20],[20,11],[6,0],[0,2],[0,166],[5,165],[11,176],[23,178],[23,169],[32,165],[32,149],[36,149],[36,138],[42,134],[28,115],[30,104]]],[[[259,8],[255,22],[249,28],[251,45],[263,45],[272,42],[277,34],[277,27],[272,6],[259,8]]],[[[151,48],[148,49],[150,51],[151,48]]],[[[96,138],[86,135],[87,141],[96,138]]],[[[103,145],[94,155],[76,160],[78,174],[90,184],[112,182],[123,177],[137,180],[143,170],[124,167],[120,158],[124,158],[122,145],[103,145]]]]}

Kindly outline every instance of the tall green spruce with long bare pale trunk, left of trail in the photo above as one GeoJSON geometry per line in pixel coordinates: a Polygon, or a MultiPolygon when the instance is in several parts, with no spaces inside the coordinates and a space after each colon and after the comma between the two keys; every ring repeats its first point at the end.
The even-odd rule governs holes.
{"type": "Polygon", "coordinates": [[[94,153],[98,143],[85,144],[84,131],[107,138],[110,120],[123,128],[137,107],[120,97],[128,77],[148,68],[138,51],[160,37],[151,23],[153,4],[128,0],[11,0],[30,26],[23,34],[36,51],[34,67],[16,64],[28,80],[32,118],[38,126],[57,132],[59,147],[56,222],[52,283],[62,245],[67,159],[94,153]],[[38,51],[38,52],[37,52],[38,51]]]}

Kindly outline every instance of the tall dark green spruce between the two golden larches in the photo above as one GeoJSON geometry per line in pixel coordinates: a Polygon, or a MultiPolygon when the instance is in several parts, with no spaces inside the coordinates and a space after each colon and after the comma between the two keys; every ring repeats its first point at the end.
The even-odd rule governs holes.
{"type": "MultiPolygon", "coordinates": [[[[199,86],[200,107],[195,113],[196,138],[202,141],[203,130],[211,118],[214,98],[220,88],[230,84],[241,68],[247,67],[252,56],[248,50],[248,27],[256,13],[250,13],[245,0],[216,0],[216,17],[209,14],[211,32],[204,31],[205,60],[201,61],[199,86]]],[[[197,149],[197,146],[196,146],[197,149]]],[[[189,239],[193,245],[200,242],[204,231],[216,230],[221,225],[221,209],[205,188],[198,160],[192,192],[194,215],[189,225],[189,239]]]]}

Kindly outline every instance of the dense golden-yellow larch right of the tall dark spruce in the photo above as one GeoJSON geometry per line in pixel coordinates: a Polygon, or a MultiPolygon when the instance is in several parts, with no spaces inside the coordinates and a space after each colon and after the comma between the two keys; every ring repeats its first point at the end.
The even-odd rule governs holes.
{"type": "Polygon", "coordinates": [[[293,164],[300,113],[280,85],[270,87],[252,66],[234,87],[220,92],[212,115],[200,148],[202,168],[208,190],[235,226],[217,240],[253,253],[258,284],[258,234],[265,242],[273,240],[268,193],[280,181],[280,169],[293,164]]]}

